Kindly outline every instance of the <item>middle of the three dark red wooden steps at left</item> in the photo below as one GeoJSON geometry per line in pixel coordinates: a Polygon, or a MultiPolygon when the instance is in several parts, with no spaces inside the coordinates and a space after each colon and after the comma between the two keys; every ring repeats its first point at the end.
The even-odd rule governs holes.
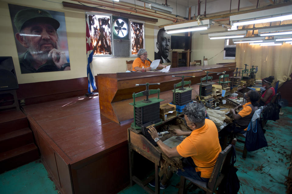
{"type": "Polygon", "coordinates": [[[30,128],[5,133],[0,135],[0,152],[6,152],[30,143],[33,143],[33,132],[30,128]]]}

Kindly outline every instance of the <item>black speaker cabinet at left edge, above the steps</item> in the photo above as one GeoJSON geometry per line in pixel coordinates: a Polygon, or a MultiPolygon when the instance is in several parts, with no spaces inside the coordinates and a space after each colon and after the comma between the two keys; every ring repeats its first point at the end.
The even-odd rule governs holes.
{"type": "Polygon", "coordinates": [[[0,57],[0,91],[18,89],[12,57],[0,57]]]}

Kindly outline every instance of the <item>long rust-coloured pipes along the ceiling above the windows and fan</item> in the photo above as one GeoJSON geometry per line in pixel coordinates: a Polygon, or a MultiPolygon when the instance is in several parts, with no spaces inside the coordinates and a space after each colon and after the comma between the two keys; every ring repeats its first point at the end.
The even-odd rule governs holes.
{"type": "MultiPolygon", "coordinates": [[[[155,12],[147,10],[147,9],[138,8],[138,7],[132,7],[130,5],[123,5],[121,3],[114,3],[114,5],[110,5],[110,4],[99,3],[99,2],[95,2],[95,1],[91,1],[91,0],[71,0],[71,1],[88,3],[88,4],[103,6],[103,7],[112,8],[112,9],[119,9],[119,10],[127,11],[127,12],[135,12],[135,13],[143,14],[143,15],[146,15],[146,16],[152,16],[152,17],[157,17],[157,18],[160,18],[160,19],[170,20],[172,22],[177,22],[178,20],[186,21],[186,19],[181,19],[181,18],[177,18],[177,17],[174,17],[174,16],[169,16],[169,15],[165,15],[165,14],[162,14],[162,13],[155,13],[155,12]],[[120,7],[120,6],[116,6],[116,5],[127,6],[129,8],[133,8],[133,9],[124,8],[124,7],[120,7]],[[137,10],[141,10],[143,12],[137,11],[137,10]],[[145,13],[145,12],[149,12],[149,13],[145,13]],[[159,14],[159,15],[162,15],[162,16],[159,16],[159,15],[156,15],[156,14],[159,14]],[[163,16],[165,16],[165,17],[163,17],[163,16]]],[[[100,1],[101,2],[107,2],[105,0],[100,0],[100,1]]]]}

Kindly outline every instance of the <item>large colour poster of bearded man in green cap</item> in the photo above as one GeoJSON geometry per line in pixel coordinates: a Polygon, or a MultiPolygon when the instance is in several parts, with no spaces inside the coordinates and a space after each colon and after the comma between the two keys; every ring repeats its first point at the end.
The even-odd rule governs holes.
{"type": "Polygon", "coordinates": [[[70,70],[64,13],[27,7],[16,12],[19,7],[9,4],[21,73],[70,70]],[[50,12],[59,21],[64,20],[62,30],[61,22],[50,12]]]}

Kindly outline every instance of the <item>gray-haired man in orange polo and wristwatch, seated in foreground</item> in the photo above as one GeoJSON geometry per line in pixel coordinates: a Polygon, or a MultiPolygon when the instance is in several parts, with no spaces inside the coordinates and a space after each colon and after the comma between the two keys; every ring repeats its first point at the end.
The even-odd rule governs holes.
{"type": "MultiPolygon", "coordinates": [[[[187,136],[178,146],[170,148],[159,138],[154,127],[149,128],[152,138],[168,157],[183,157],[184,171],[178,169],[177,174],[199,181],[208,182],[217,157],[221,152],[218,130],[213,121],[206,119],[206,109],[203,103],[189,103],[183,109],[184,118],[189,132],[176,129],[177,136],[187,136]]],[[[161,181],[161,189],[166,185],[168,176],[161,181]]]]}

